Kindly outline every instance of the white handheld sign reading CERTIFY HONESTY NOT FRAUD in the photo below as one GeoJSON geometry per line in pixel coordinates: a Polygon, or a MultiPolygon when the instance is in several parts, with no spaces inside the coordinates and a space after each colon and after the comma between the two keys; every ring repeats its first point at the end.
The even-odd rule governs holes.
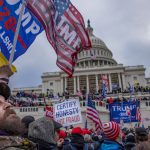
{"type": "Polygon", "coordinates": [[[82,123],[79,100],[67,100],[54,105],[54,120],[63,126],[82,123]]]}

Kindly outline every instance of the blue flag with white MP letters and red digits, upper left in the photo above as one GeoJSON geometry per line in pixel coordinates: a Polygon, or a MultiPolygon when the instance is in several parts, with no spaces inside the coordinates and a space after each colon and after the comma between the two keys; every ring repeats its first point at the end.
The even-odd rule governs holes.
{"type": "MultiPolygon", "coordinates": [[[[22,0],[0,1],[0,54],[3,55],[7,61],[9,60],[13,47],[13,40],[21,6],[22,0]]],[[[21,20],[13,61],[27,51],[36,36],[42,31],[42,25],[35,16],[33,16],[33,14],[25,8],[21,20]]]]}

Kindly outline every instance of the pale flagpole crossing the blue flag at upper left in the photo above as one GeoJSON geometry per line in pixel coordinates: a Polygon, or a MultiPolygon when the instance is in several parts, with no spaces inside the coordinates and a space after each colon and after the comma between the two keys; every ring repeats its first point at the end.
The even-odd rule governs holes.
{"type": "Polygon", "coordinates": [[[10,58],[9,58],[9,64],[10,66],[12,65],[13,59],[14,59],[14,53],[15,53],[15,49],[16,49],[16,45],[17,45],[17,39],[18,39],[18,35],[19,35],[19,31],[20,31],[20,26],[21,26],[21,19],[24,13],[24,8],[26,6],[26,0],[23,0],[22,2],[22,6],[21,6],[21,10],[20,10],[20,14],[19,14],[19,19],[18,19],[18,23],[17,23],[17,27],[16,27],[16,31],[15,31],[15,36],[14,36],[14,41],[13,41],[13,47],[10,53],[10,58]]]}

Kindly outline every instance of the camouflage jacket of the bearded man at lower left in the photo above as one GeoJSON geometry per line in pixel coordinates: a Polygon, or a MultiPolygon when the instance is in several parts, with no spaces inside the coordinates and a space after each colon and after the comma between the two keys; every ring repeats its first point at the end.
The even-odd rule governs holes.
{"type": "Polygon", "coordinates": [[[37,145],[18,136],[0,136],[0,150],[37,150],[37,145]]]}

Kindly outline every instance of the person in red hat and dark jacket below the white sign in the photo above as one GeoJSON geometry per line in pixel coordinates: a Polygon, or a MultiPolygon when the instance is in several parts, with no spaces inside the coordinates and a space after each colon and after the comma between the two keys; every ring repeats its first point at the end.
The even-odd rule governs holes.
{"type": "Polygon", "coordinates": [[[83,150],[83,148],[84,138],[82,136],[82,129],[75,127],[72,129],[70,144],[63,146],[63,150],[83,150]]]}

